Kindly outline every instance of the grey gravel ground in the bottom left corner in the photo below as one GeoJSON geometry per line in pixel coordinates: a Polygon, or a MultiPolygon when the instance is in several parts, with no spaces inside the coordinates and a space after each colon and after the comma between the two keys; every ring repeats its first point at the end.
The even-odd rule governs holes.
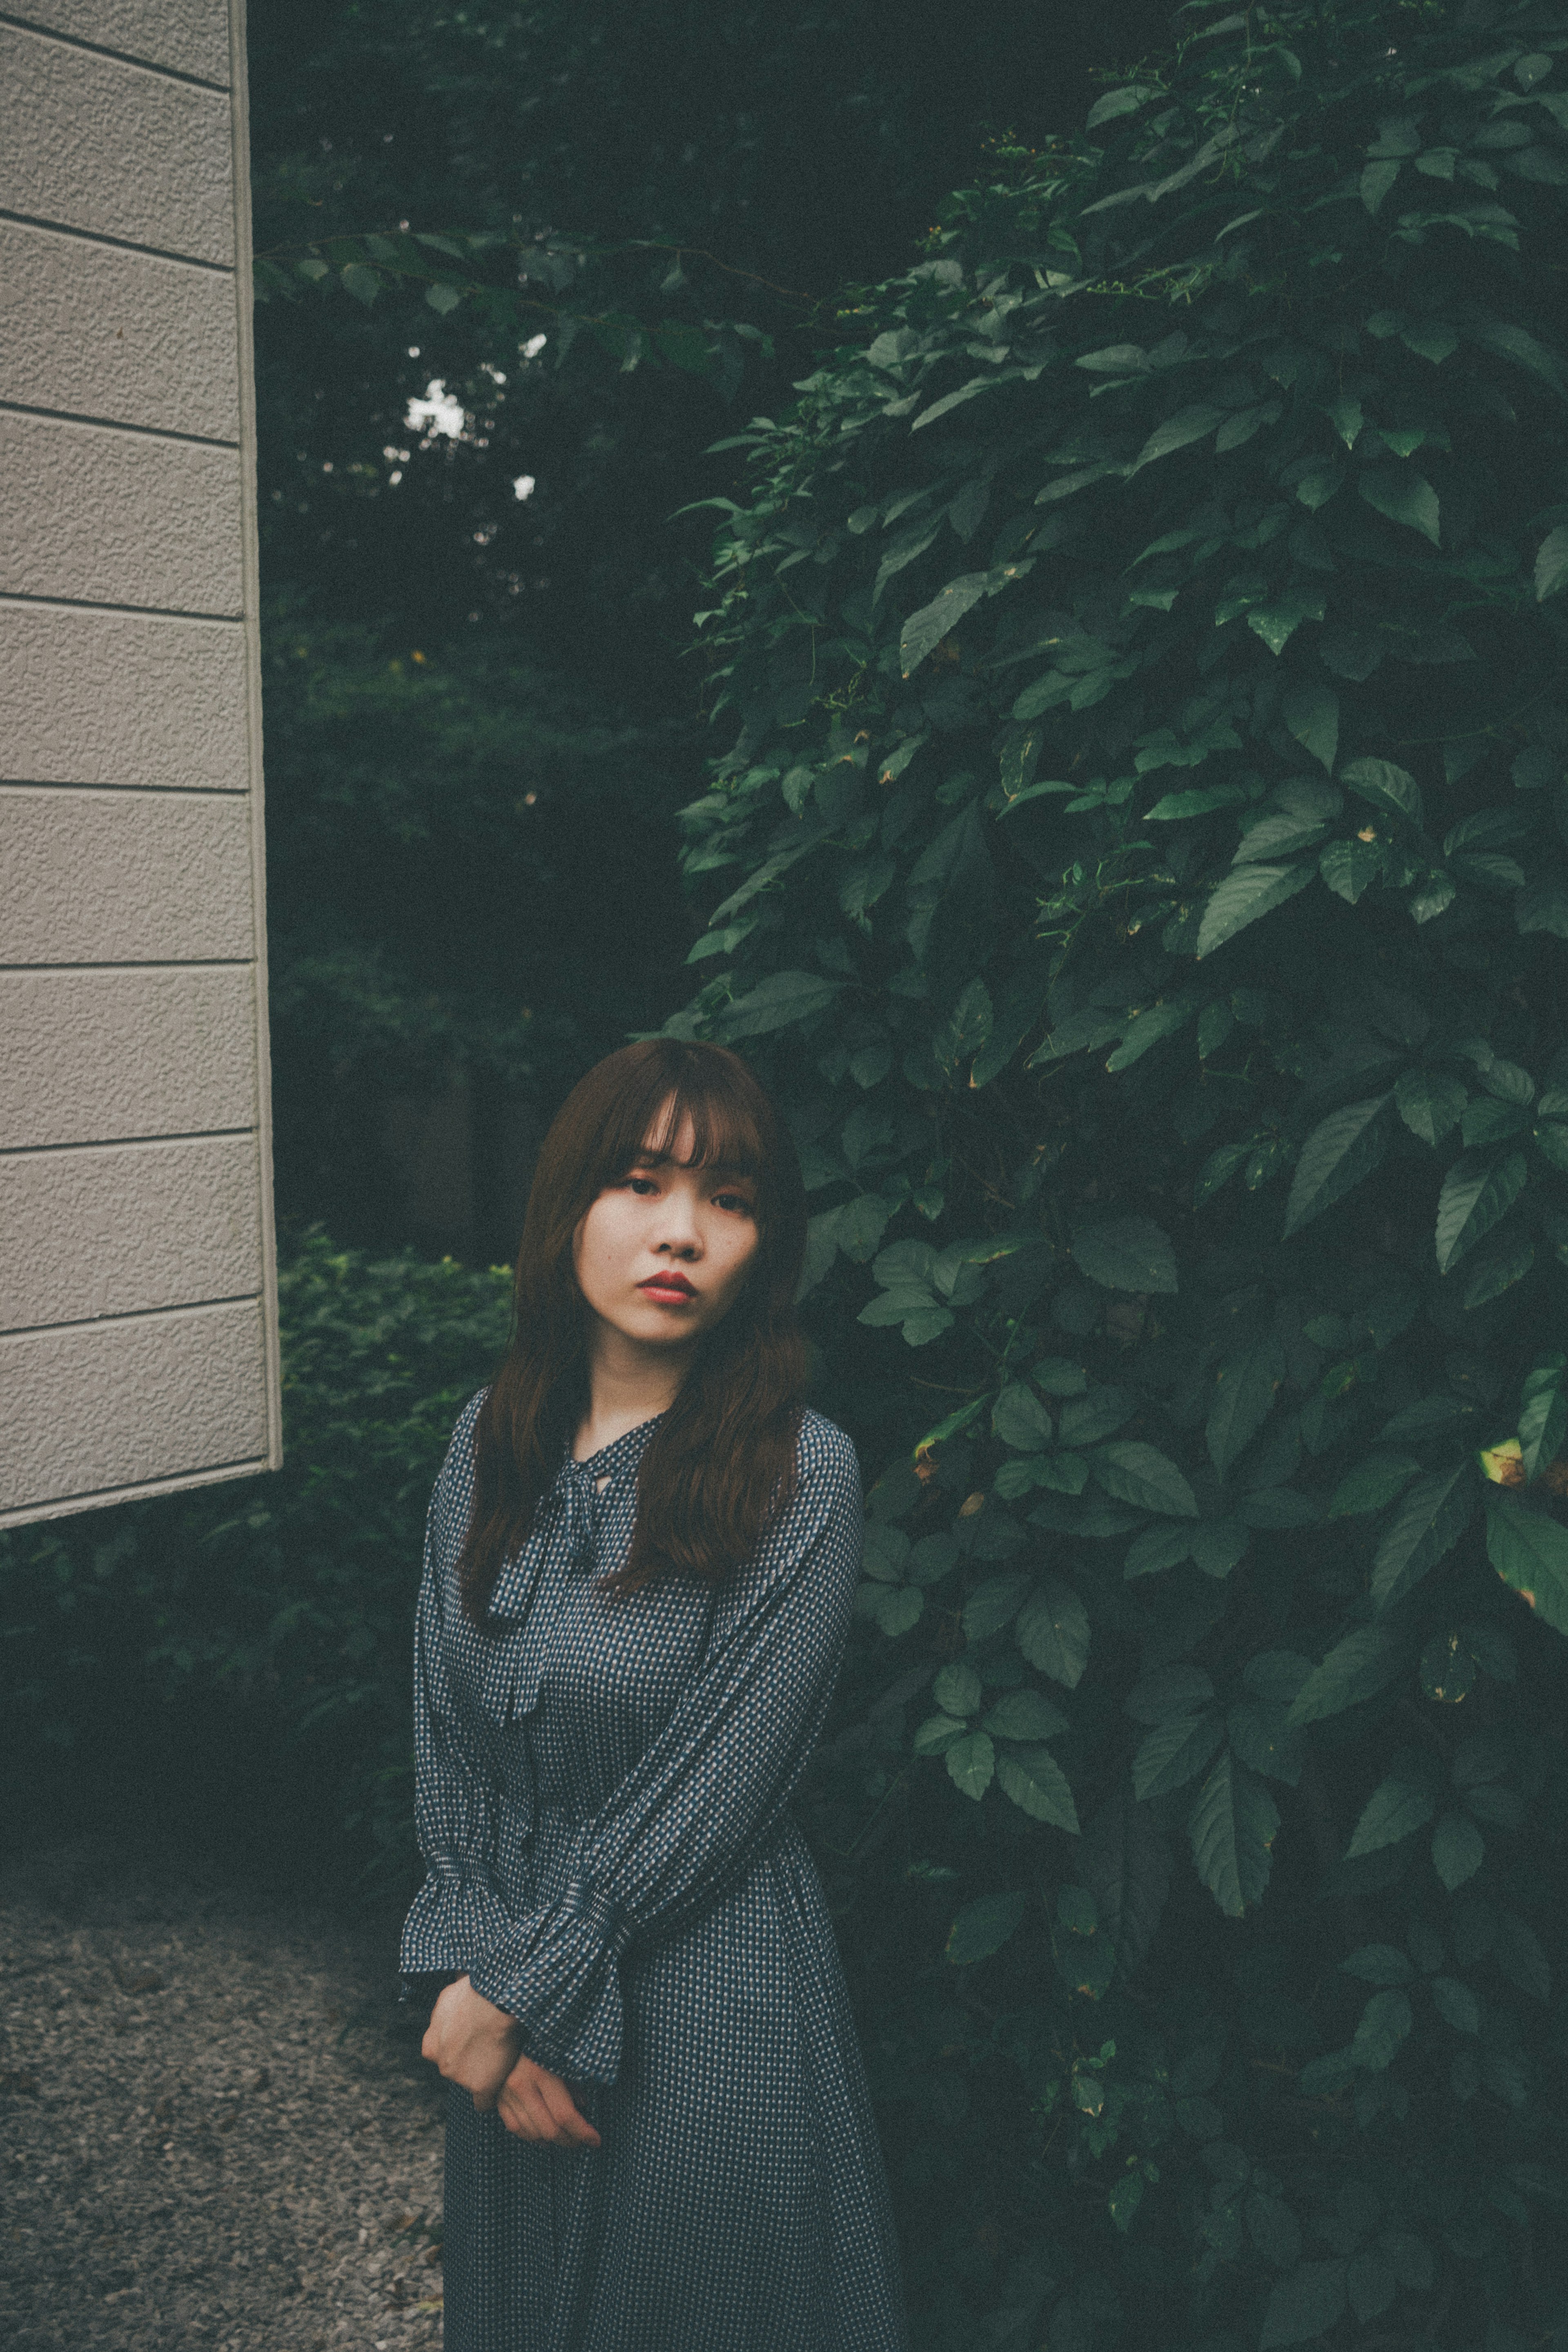
{"type": "Polygon", "coordinates": [[[442,2340],[442,2105],[393,1922],[82,1839],[0,1867],[7,2352],[442,2340]]]}

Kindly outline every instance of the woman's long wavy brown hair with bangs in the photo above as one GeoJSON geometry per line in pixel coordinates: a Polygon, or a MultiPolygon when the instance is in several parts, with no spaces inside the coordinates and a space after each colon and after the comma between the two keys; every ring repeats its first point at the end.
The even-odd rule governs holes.
{"type": "Polygon", "coordinates": [[[489,1616],[496,1578],[529,1538],[588,1406],[576,1228],[644,1150],[672,1150],[686,1120],[686,1167],[719,1164],[757,1185],[759,1247],[741,1296],[705,1334],[649,1437],[632,1550],[609,1583],[621,1592],[670,1573],[717,1583],[790,1494],[806,1385],[795,1317],[806,1195],[795,1145],[738,1054],[646,1037],[578,1080],[538,1152],[517,1251],[512,1341],[475,1425],[475,1498],[458,1562],[463,1613],[487,1632],[505,1632],[489,1616]]]}

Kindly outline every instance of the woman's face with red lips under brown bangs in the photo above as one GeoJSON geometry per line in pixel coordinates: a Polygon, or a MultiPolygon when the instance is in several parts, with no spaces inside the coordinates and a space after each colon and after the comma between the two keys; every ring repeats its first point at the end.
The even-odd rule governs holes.
{"type": "Polygon", "coordinates": [[[668,1150],[646,1148],[576,1230],[571,1263],[583,1298],[639,1345],[679,1348],[710,1331],[757,1256],[757,1185],[731,1169],[682,1167],[691,1145],[684,1120],[668,1150]]]}

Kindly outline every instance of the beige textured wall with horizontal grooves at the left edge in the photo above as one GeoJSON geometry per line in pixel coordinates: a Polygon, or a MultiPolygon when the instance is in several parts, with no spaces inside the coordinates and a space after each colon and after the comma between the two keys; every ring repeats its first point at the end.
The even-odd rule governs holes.
{"type": "Polygon", "coordinates": [[[242,0],[0,21],[0,1526],[280,1461],[242,0]]]}

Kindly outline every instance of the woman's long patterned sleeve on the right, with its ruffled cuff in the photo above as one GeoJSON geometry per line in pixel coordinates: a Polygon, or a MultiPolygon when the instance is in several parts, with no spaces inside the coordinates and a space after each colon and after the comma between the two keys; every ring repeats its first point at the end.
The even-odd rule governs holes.
{"type": "MultiPolygon", "coordinates": [[[[719,1590],[705,1658],[670,1722],[571,1839],[559,1900],[470,1966],[541,2065],[614,2082],[618,1952],[696,1919],[769,1849],[823,1726],[860,1571],[860,1472],[806,1416],[790,1508],[719,1590]]],[[[658,1590],[623,1606],[658,1606],[658,1590]]]]}

